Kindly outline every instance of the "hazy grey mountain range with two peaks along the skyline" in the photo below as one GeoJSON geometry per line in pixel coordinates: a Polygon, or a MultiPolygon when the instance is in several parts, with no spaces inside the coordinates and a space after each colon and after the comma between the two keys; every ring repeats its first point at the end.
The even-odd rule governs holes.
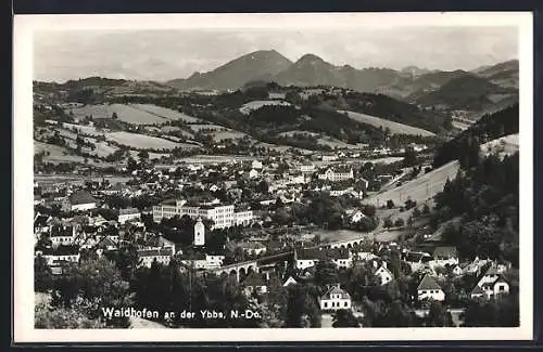
{"type": "Polygon", "coordinates": [[[305,54],[296,62],[291,62],[275,50],[265,50],[240,56],[207,73],[194,73],[186,79],[171,80],[166,84],[181,90],[237,90],[250,81],[264,80],[283,87],[334,86],[416,102],[417,96],[465,76],[476,76],[497,87],[516,89],[518,61],[482,66],[471,71],[430,70],[417,66],[395,70],[336,66],[314,54],[305,54]]]}

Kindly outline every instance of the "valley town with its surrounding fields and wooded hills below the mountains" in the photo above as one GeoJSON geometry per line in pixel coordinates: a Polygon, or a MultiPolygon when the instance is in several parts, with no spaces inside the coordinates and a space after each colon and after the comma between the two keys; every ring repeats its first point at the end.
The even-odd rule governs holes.
{"type": "Polygon", "coordinates": [[[338,87],[89,80],[35,82],[35,289],[58,312],[38,327],[134,324],[104,307],[258,312],[139,320],[161,327],[518,325],[518,104],[377,128],[390,99],[338,87]],[[369,103],[321,108],[339,99],[369,103]]]}

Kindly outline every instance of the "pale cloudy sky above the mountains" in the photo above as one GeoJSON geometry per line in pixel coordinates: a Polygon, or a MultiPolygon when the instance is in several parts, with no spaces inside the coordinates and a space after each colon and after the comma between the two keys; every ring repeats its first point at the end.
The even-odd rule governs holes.
{"type": "Polygon", "coordinates": [[[34,79],[90,76],[166,81],[212,70],[256,50],[291,61],[313,53],[355,68],[473,69],[518,58],[516,27],[364,29],[47,30],[34,37],[34,79]]]}

